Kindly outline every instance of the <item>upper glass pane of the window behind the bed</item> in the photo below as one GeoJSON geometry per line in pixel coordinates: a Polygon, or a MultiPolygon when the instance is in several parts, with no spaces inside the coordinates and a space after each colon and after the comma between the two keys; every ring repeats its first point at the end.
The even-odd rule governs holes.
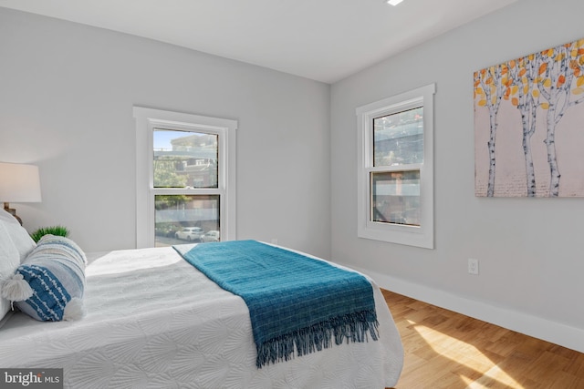
{"type": "Polygon", "coordinates": [[[218,135],[154,129],[154,188],[217,188],[218,135]]]}

